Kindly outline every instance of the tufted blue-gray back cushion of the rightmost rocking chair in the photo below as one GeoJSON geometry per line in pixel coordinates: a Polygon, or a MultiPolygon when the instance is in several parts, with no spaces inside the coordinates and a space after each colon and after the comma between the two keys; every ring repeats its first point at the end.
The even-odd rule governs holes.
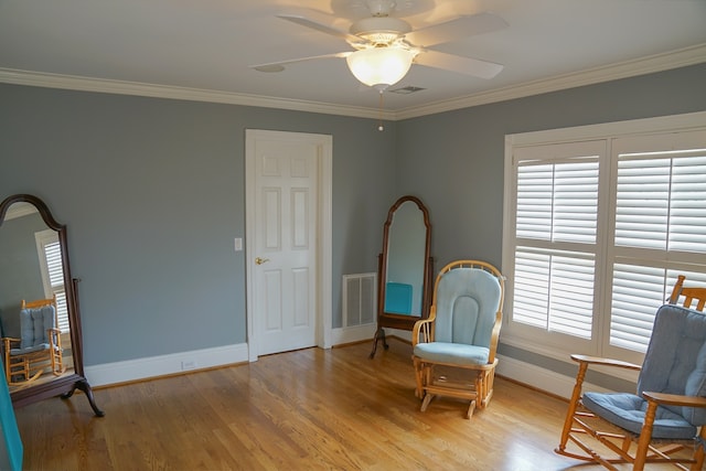
{"type": "MultiPolygon", "coordinates": [[[[638,378],[642,392],[706,396],[706,315],[681,306],[662,306],[638,378]]],[[[706,409],[665,406],[694,426],[706,425],[706,409]]]]}

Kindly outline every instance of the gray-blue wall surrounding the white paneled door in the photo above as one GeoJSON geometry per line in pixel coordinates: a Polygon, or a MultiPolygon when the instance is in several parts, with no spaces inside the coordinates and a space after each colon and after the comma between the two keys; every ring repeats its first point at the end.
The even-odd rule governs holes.
{"type": "Polygon", "coordinates": [[[66,224],[87,366],[246,341],[245,129],[333,136],[341,276],[374,271],[397,199],[393,124],[0,84],[0,199],[66,224]]]}

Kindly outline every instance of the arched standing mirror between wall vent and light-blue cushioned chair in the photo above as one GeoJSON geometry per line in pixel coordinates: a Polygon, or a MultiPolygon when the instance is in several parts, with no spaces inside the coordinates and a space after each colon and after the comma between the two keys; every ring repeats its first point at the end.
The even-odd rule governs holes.
{"type": "Polygon", "coordinates": [[[402,196],[389,208],[383,232],[377,263],[377,330],[371,358],[377,342],[388,349],[385,328],[410,331],[415,322],[429,317],[434,269],[430,243],[427,207],[415,196],[402,196]]]}

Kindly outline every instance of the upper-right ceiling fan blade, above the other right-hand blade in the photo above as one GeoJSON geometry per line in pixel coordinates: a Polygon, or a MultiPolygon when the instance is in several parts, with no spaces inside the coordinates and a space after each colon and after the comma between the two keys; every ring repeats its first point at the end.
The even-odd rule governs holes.
{"type": "Polygon", "coordinates": [[[458,41],[475,34],[490,33],[504,28],[507,28],[505,20],[496,14],[484,12],[459,17],[445,23],[432,24],[431,26],[413,31],[405,35],[405,40],[416,46],[427,47],[458,41]]]}

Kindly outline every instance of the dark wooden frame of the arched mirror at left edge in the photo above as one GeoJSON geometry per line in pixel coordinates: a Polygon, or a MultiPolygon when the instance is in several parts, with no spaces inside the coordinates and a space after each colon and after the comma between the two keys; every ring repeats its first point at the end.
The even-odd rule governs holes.
{"type": "MultiPolygon", "coordinates": [[[[83,343],[81,331],[81,314],[78,311],[77,283],[78,279],[72,278],[71,266],[68,264],[68,244],[66,238],[66,226],[54,220],[49,207],[42,200],[31,194],[15,194],[9,196],[0,203],[0,228],[6,220],[6,215],[10,206],[14,203],[29,203],[33,205],[49,228],[56,231],[61,245],[62,264],[64,271],[64,287],[66,290],[66,309],[68,313],[69,335],[72,343],[72,355],[74,363],[74,373],[62,375],[50,382],[42,382],[36,385],[29,385],[10,392],[10,397],[14,407],[21,407],[28,404],[43,400],[50,397],[62,396],[62,398],[71,397],[76,389],[85,393],[90,407],[98,417],[105,414],[95,403],[93,390],[88,381],[84,376],[83,364],[83,343]]],[[[4,374],[4,373],[3,373],[4,374]]]]}

